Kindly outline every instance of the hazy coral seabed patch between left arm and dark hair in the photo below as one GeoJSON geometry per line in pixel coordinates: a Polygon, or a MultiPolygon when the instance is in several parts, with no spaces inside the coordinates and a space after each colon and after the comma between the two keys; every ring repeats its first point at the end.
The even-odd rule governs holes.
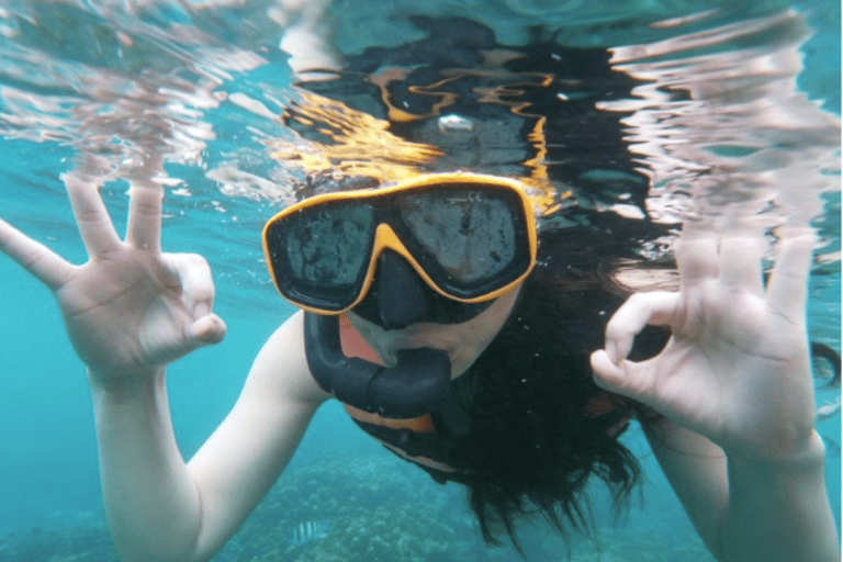
{"type": "Polygon", "coordinates": [[[402,464],[392,459],[344,459],[285,474],[218,559],[453,560],[459,541],[449,524],[446,495],[437,493],[425,474],[402,470],[402,464]],[[292,542],[292,530],[308,520],[326,521],[329,530],[305,544],[292,542]]]}

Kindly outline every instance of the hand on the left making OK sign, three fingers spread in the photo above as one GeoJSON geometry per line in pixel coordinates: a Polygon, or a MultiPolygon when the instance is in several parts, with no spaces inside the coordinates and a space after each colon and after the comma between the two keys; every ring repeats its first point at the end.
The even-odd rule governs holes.
{"type": "Polygon", "coordinates": [[[166,363],[225,336],[212,313],[214,285],[198,255],[160,250],[164,190],[131,179],[128,226],[121,240],[85,172],[65,178],[88,262],[69,263],[0,220],[0,250],[56,295],[70,341],[92,382],[106,384],[153,373],[166,363]]]}

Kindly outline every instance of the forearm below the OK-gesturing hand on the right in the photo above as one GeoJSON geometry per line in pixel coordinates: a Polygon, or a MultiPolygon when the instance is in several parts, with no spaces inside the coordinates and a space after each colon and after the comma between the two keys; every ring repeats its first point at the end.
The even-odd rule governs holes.
{"type": "Polygon", "coordinates": [[[722,562],[836,562],[840,549],[823,477],[824,448],[788,463],[728,456],[729,503],[718,533],[722,562]]]}

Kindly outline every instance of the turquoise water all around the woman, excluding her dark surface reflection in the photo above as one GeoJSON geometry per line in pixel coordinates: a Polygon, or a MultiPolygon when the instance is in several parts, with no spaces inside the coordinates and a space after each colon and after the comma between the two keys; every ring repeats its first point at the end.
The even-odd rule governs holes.
{"type": "MultiPolygon", "coordinates": [[[[121,173],[131,170],[138,155],[155,150],[165,155],[172,180],[165,204],[165,249],[200,252],[213,268],[216,310],[229,327],[226,340],[177,362],[168,375],[173,422],[186,457],[227,413],[255,353],[293,312],[269,283],[259,240],[263,222],[294,196],[288,170],[269,149],[276,139],[293,138],[271,119],[292,95],[286,56],[278,48],[282,30],[267,18],[271,2],[252,2],[245,9],[224,4],[0,2],[0,216],[80,262],[86,258],[59,176],[71,169],[80,151],[105,155],[112,171],[103,196],[122,229],[126,186],[121,173]],[[136,11],[126,11],[127,7],[136,11]],[[270,116],[243,103],[244,98],[260,101],[270,116]]],[[[391,2],[384,13],[382,2],[335,2],[329,14],[334,43],[355,54],[372,45],[415,40],[403,23],[406,14],[418,11],[415,4],[391,2]]],[[[767,228],[800,216],[814,222],[824,240],[812,278],[810,331],[812,339],[840,350],[839,149],[828,147],[829,135],[836,137],[838,132],[834,119],[822,117],[822,112],[840,114],[839,2],[793,4],[814,30],[805,40],[785,26],[776,30],[790,30],[793,35],[721,33],[720,40],[693,50],[677,50],[677,44],[693,33],[741,27],[748,19],[780,13],[791,4],[752,2],[751,9],[733,2],[689,1],[639,2],[623,9],[608,1],[549,4],[467,0],[428,2],[422,11],[471,15],[494,29],[502,44],[522,44],[525,30],[543,23],[560,29],[558,41],[567,45],[649,45],[654,54],[648,56],[640,48],[616,48],[619,68],[661,81],[667,89],[677,83],[671,82],[675,80],[671,68],[685,71],[683,83],[700,88],[727,83],[729,70],[745,75],[746,65],[756,68],[760,60],[778,69],[763,75],[766,90],[753,90],[757,83],[742,86],[754,94],[761,91],[762,101],[778,108],[765,115],[780,119],[780,127],[751,112],[733,111],[745,109],[731,104],[740,95],[715,92],[709,105],[688,104],[682,112],[675,111],[673,101],[662,106],[655,98],[616,103],[638,103],[638,119],[629,123],[632,137],[666,139],[641,153],[656,170],[653,212],[664,216],[696,212],[712,227],[722,227],[726,201],[731,205],[729,216],[739,222],[757,221],[767,228]],[[713,7],[722,8],[708,18],[651,25],[713,7]],[[750,52],[769,55],[752,58],[750,52]],[[699,54],[711,55],[707,61],[721,66],[695,66],[692,55],[699,54]],[[793,80],[810,102],[788,93],[793,80]],[[727,147],[720,154],[709,151],[723,157],[719,162],[728,164],[721,168],[727,172],[753,173],[758,161],[729,158],[723,150],[744,154],[748,147],[754,151],[757,143],[767,143],[777,167],[799,179],[787,184],[794,188],[788,192],[793,196],[778,200],[771,211],[767,199],[756,192],[713,193],[690,184],[695,176],[688,162],[696,156],[674,150],[667,140],[676,130],[692,132],[687,136],[700,144],[727,147]]],[[[784,13],[793,18],[793,12],[784,13]]],[[[659,91],[665,90],[651,93],[659,91]]],[[[83,367],[67,341],[49,292],[8,259],[0,259],[0,560],[54,555],[69,560],[75,553],[106,560],[111,551],[83,367]]],[[[818,404],[833,401],[839,392],[819,391],[818,404]]],[[[823,422],[820,431],[840,443],[840,418],[823,422]]],[[[625,439],[640,451],[648,474],[642,505],[636,498],[630,515],[615,522],[606,499],[595,490],[598,540],[574,538],[572,560],[710,560],[643,439],[636,431],[625,439]]],[[[840,460],[839,447],[829,447],[827,475],[839,521],[840,460]]],[[[565,546],[548,529],[539,526],[525,532],[530,560],[563,559],[565,546]]],[[[512,549],[483,546],[457,487],[438,486],[395,460],[336,404],[319,411],[284,476],[218,560],[319,557],[518,560],[512,549]],[[330,531],[307,544],[290,546],[289,537],[303,521],[325,521],[330,531]]]]}

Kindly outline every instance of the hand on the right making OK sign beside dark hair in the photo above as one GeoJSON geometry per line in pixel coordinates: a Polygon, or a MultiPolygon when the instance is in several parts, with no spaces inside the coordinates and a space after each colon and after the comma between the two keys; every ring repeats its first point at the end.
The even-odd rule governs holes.
{"type": "Polygon", "coordinates": [[[709,438],[728,454],[788,461],[811,447],[814,402],[806,334],[811,231],[780,244],[767,286],[762,241],[678,241],[677,293],[632,295],[606,328],[606,349],[592,355],[602,387],[641,402],[709,438]],[[626,359],[647,324],[672,337],[656,357],[626,359]]]}

